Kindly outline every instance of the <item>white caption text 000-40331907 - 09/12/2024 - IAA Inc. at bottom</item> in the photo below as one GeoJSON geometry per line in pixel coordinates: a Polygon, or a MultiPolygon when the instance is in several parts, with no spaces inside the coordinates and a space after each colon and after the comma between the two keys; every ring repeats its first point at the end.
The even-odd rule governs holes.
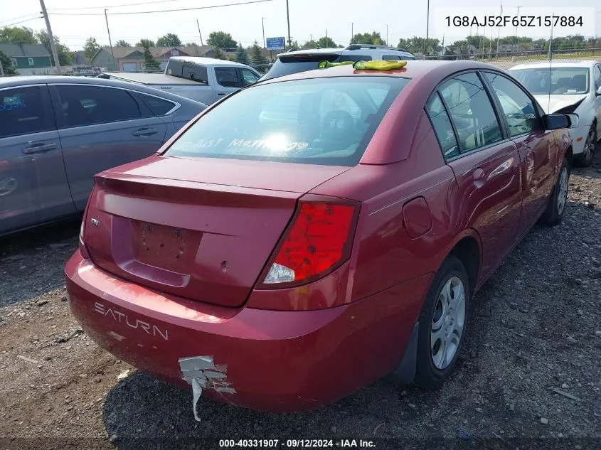
{"type": "Polygon", "coordinates": [[[264,449],[369,449],[376,447],[373,441],[363,439],[220,439],[219,447],[222,449],[247,447],[264,449]]]}

